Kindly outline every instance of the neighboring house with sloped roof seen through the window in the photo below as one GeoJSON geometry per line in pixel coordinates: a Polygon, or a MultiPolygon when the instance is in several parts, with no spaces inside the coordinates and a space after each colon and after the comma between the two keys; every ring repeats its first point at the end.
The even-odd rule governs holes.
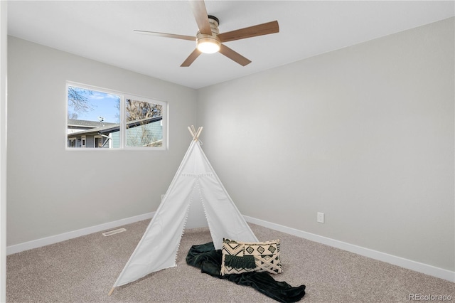
{"type": "MultiPolygon", "coordinates": [[[[162,116],[127,122],[127,147],[161,147],[162,116]]],[[[118,123],[68,119],[68,147],[119,148],[118,123]]]]}

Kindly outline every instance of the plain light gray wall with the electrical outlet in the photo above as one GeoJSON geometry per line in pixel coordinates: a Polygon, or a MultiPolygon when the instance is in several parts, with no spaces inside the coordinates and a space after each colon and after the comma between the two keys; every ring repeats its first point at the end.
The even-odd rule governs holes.
{"type": "Polygon", "coordinates": [[[454,64],[451,18],[205,87],[205,153],[246,216],[453,271],[454,64]]]}

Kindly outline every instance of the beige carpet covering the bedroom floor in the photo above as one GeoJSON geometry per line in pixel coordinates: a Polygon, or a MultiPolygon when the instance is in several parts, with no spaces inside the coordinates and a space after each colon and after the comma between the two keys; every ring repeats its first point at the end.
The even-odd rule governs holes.
{"type": "MultiPolygon", "coordinates": [[[[251,287],[186,265],[191,245],[210,242],[208,228],[186,230],[177,267],[117,287],[108,297],[148,223],[125,225],[126,232],[109,237],[95,233],[9,255],[7,302],[276,302],[251,287]]],[[[455,283],[250,226],[259,240],[281,240],[284,272],[274,277],[293,286],[306,285],[301,302],[412,302],[410,294],[446,294],[455,302],[455,283]]]]}

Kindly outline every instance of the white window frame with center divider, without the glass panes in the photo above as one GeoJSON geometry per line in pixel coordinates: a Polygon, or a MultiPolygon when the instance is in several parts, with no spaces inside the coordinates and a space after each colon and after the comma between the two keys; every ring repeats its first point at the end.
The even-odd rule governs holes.
{"type": "MultiPolygon", "coordinates": [[[[68,138],[66,140],[65,144],[65,149],[67,150],[141,150],[141,151],[164,151],[168,149],[168,102],[157,100],[155,98],[150,98],[150,97],[143,97],[139,95],[134,95],[131,93],[127,92],[121,92],[119,90],[109,90],[106,88],[102,87],[96,87],[93,85],[87,85],[87,84],[82,84],[82,83],[76,83],[73,81],[67,81],[66,82],[66,99],[65,99],[65,129],[68,129],[68,86],[75,86],[75,87],[80,87],[85,90],[94,90],[97,92],[105,92],[107,94],[112,94],[112,95],[119,95],[120,96],[120,124],[119,124],[119,147],[118,148],[113,148],[112,147],[112,140],[109,140],[109,148],[97,148],[97,147],[86,147],[86,148],[78,148],[78,147],[68,147],[68,130],[66,137],[68,138]],[[161,118],[161,125],[163,126],[163,144],[161,147],[127,147],[127,132],[126,132],[126,119],[127,115],[125,114],[126,112],[126,103],[125,100],[130,99],[130,100],[137,100],[137,101],[142,101],[142,102],[149,102],[152,104],[158,104],[163,107],[163,116],[161,118]]],[[[101,137],[101,136],[100,136],[101,137]]],[[[109,137],[112,137],[112,134],[109,134],[109,137]]],[[[87,144],[87,139],[85,140],[87,144]]],[[[77,139],[76,139],[76,144],[77,144],[77,139]]],[[[81,141],[82,144],[82,141],[81,141]]],[[[94,138],[94,144],[95,144],[95,138],[94,138]]]]}

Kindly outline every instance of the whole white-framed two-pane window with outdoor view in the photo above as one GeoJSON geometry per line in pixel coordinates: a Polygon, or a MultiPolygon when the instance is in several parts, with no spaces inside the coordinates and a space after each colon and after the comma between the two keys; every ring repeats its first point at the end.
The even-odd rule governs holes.
{"type": "Polygon", "coordinates": [[[67,149],[166,149],[166,102],[67,83],[67,149]]]}

